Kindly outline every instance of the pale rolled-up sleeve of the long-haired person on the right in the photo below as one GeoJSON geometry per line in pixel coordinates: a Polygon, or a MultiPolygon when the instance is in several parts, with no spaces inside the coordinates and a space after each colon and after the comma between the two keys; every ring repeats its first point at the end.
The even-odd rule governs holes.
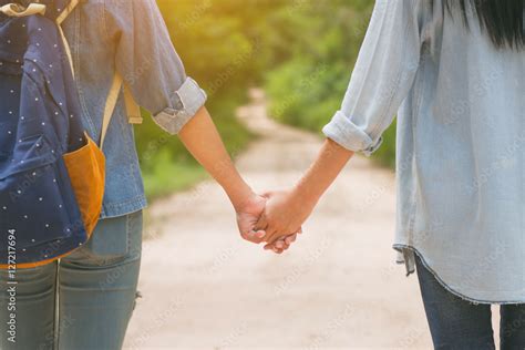
{"type": "Polygon", "coordinates": [[[370,156],[406,97],[421,55],[424,1],[378,0],[341,109],[323,134],[370,156]]]}

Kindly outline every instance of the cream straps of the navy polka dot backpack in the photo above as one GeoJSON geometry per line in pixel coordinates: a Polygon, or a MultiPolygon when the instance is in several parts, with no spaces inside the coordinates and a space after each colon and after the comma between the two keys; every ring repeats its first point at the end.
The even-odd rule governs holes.
{"type": "MultiPolygon", "coordinates": [[[[71,0],[68,7],[56,18],[56,24],[59,27],[62,41],[64,42],[65,53],[68,55],[68,60],[70,62],[71,72],[73,73],[73,76],[74,76],[74,69],[73,69],[73,59],[71,55],[71,49],[68,43],[68,40],[65,39],[65,34],[64,34],[64,31],[62,30],[61,24],[68,18],[68,16],[70,16],[71,12],[73,12],[73,10],[76,8],[80,0],[71,0]]],[[[143,120],[142,120],[142,114],[141,114],[141,107],[138,106],[135,99],[133,97],[131,90],[124,84],[122,75],[117,71],[115,71],[115,75],[113,76],[113,82],[105,101],[104,115],[102,117],[102,132],[101,132],[101,138],[99,143],[101,148],[104,145],[104,140],[107,134],[107,128],[110,126],[110,122],[113,116],[113,112],[115,111],[116,102],[119,100],[119,95],[122,90],[124,90],[124,101],[126,105],[127,120],[130,124],[142,124],[143,120]]]]}

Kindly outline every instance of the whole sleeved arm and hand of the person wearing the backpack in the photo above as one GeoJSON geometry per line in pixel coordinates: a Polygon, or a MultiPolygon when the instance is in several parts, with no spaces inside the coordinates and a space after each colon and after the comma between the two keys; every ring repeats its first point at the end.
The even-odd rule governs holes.
{"type": "Polygon", "coordinates": [[[171,41],[155,0],[104,0],[104,28],[114,45],[115,68],[137,103],[158,126],[179,135],[187,150],[228,194],[245,239],[260,243],[253,231],[265,198],[255,195],[228,156],[204,107],[207,95],[191,76],[171,41]]]}

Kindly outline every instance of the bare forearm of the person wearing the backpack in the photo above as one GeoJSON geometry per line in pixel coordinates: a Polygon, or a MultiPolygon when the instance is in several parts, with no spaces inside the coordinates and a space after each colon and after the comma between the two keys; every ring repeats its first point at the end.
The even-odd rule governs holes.
{"type": "Polygon", "coordinates": [[[223,186],[234,207],[241,206],[251,194],[251,188],[235,168],[206,107],[197,112],[178,136],[189,153],[223,186]]]}

